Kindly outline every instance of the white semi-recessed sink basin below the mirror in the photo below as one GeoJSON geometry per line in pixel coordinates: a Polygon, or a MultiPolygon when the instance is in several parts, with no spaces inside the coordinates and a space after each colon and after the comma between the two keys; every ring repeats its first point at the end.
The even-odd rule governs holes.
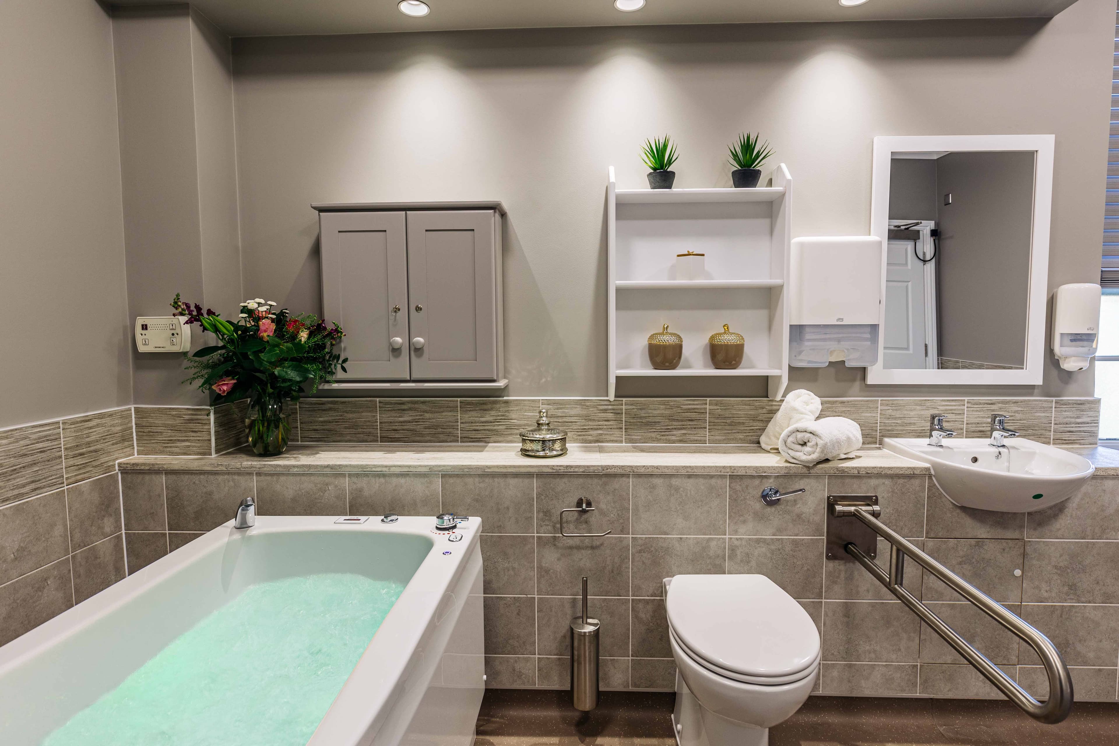
{"type": "Polygon", "coordinates": [[[965,508],[1028,513],[1068,500],[1096,471],[1088,459],[1023,437],[996,448],[979,437],[887,437],[886,451],[929,464],[949,500],[965,508]]]}

